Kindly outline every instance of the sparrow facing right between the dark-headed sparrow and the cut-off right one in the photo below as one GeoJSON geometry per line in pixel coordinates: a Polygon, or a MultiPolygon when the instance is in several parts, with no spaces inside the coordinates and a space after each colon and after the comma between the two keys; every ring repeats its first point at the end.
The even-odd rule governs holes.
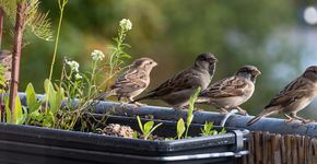
{"type": "Polygon", "coordinates": [[[261,72],[256,67],[244,66],[235,75],[225,78],[202,91],[196,103],[211,104],[223,113],[237,108],[242,114],[247,114],[239,105],[251,97],[259,74],[261,72]]]}

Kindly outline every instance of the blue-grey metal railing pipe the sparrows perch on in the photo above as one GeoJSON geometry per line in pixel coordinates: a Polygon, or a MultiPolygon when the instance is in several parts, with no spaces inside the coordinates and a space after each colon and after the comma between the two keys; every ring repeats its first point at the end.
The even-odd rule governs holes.
{"type": "MultiPolygon", "coordinates": [[[[19,93],[22,104],[26,104],[25,93],[19,93]]],[[[43,98],[45,95],[38,94],[38,98],[43,98]]],[[[175,112],[169,107],[161,106],[142,106],[136,108],[133,105],[120,106],[119,103],[114,102],[101,102],[95,106],[96,114],[107,114],[114,113],[114,108],[119,109],[121,114],[127,116],[136,115],[153,115],[155,119],[163,120],[178,120],[179,117],[184,119],[187,116],[187,112],[175,112]]],[[[116,114],[116,110],[115,110],[116,114]]],[[[193,124],[204,124],[206,121],[213,121],[215,126],[221,125],[222,120],[225,118],[225,115],[214,113],[214,112],[195,112],[193,124]]],[[[271,133],[280,134],[300,134],[308,137],[317,137],[317,122],[309,122],[305,125],[300,125],[298,122],[285,122],[284,119],[265,117],[261,118],[258,122],[246,126],[246,124],[251,119],[251,116],[242,116],[242,115],[232,115],[225,121],[224,127],[233,128],[243,128],[250,131],[268,131],[271,133]]]]}

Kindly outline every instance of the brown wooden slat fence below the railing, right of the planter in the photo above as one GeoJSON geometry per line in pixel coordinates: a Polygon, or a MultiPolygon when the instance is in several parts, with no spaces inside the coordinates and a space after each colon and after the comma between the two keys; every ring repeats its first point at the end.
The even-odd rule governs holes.
{"type": "Polygon", "coordinates": [[[247,145],[250,154],[238,164],[317,164],[317,139],[255,131],[247,145]]]}

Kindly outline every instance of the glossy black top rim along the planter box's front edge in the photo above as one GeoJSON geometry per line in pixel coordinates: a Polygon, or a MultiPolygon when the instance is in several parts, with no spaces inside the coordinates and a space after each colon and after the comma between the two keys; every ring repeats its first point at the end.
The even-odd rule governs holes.
{"type": "MultiPolygon", "coordinates": [[[[128,117],[127,117],[128,118],[128,117]]],[[[142,119],[143,120],[143,119],[142,119]]],[[[172,121],[164,121],[164,124],[173,124],[172,121]]],[[[192,125],[195,126],[195,125],[192,125]]],[[[198,125],[196,125],[198,126],[198,125]]],[[[52,129],[52,128],[46,128],[46,127],[36,127],[36,126],[28,126],[28,125],[13,125],[13,124],[7,124],[7,122],[0,122],[0,133],[1,132],[8,132],[8,133],[15,133],[19,134],[20,132],[24,132],[24,136],[34,136],[35,133],[37,136],[40,136],[40,138],[54,138],[54,139],[64,139],[63,137],[68,137],[70,141],[81,140],[82,138],[90,138],[90,140],[84,140],[84,142],[93,142],[93,141],[107,141],[107,140],[121,140],[121,141],[128,141],[128,142],[144,142],[149,144],[157,144],[160,147],[171,147],[171,145],[177,145],[177,144],[184,144],[187,142],[201,142],[212,139],[225,139],[225,138],[232,138],[236,136],[235,130],[231,131],[232,128],[228,128],[230,131],[223,134],[215,134],[215,136],[198,136],[193,138],[187,138],[187,139],[179,139],[179,140],[141,140],[141,139],[133,139],[133,138],[122,138],[122,137],[113,137],[113,136],[103,136],[99,133],[93,133],[93,132],[81,132],[81,131],[70,131],[70,130],[62,130],[62,129],[52,129]],[[54,132],[59,132],[60,136],[50,136],[54,132]]],[[[238,130],[242,132],[242,136],[247,136],[248,130],[238,130]]],[[[82,141],[82,140],[81,140],[82,141]]],[[[230,144],[230,143],[228,143],[230,144]]]]}

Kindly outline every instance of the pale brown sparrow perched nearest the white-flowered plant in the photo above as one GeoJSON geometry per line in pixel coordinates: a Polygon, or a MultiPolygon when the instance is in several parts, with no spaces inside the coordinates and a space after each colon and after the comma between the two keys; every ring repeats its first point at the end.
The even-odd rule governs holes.
{"type": "Polygon", "coordinates": [[[129,102],[133,102],[133,97],[143,92],[150,84],[150,73],[157,63],[150,58],[140,58],[133,61],[129,69],[124,72],[110,85],[110,91],[101,97],[118,96],[118,101],[127,97],[129,102]]]}

